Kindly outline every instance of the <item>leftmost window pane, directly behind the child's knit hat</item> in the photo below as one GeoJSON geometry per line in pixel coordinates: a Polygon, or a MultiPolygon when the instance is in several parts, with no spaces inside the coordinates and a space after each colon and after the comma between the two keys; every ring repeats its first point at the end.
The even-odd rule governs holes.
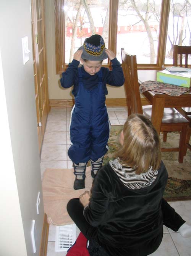
{"type": "Polygon", "coordinates": [[[79,2],[65,0],[65,63],[72,61],[74,52],[91,35],[101,35],[108,47],[109,0],[79,2]]]}

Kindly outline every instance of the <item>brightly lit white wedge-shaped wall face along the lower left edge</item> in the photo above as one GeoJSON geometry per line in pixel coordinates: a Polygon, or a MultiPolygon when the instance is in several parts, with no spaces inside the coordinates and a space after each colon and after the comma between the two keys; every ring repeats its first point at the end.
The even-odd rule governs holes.
{"type": "Polygon", "coordinates": [[[13,153],[11,149],[10,130],[6,109],[5,87],[2,73],[2,60],[0,53],[0,107],[3,109],[1,120],[3,125],[0,131],[0,155],[1,155],[1,178],[0,178],[0,199],[1,199],[1,228],[0,228],[0,255],[25,256],[26,246],[24,243],[23,223],[19,207],[19,196],[15,177],[13,153]],[[11,241],[11,245],[10,245],[11,241]]]}

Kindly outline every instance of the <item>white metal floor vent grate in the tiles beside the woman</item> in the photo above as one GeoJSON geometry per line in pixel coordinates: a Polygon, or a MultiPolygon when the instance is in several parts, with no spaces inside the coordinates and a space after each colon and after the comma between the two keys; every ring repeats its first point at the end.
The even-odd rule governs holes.
{"type": "Polygon", "coordinates": [[[76,225],[56,226],[55,251],[68,251],[76,241],[76,225]]]}

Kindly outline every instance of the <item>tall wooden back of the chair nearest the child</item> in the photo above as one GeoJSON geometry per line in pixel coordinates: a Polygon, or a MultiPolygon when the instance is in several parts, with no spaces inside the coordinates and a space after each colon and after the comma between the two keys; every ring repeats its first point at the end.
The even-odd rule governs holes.
{"type": "Polygon", "coordinates": [[[139,92],[136,55],[129,55],[121,48],[122,68],[125,77],[125,94],[128,116],[131,113],[142,114],[141,96],[139,92]]]}

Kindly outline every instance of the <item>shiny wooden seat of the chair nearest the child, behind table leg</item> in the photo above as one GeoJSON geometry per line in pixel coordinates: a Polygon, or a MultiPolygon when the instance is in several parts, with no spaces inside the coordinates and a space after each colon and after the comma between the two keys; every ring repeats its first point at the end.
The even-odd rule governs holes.
{"type": "MultiPolygon", "coordinates": [[[[142,106],[142,111],[145,116],[151,119],[152,105],[142,106]]],[[[175,108],[165,107],[162,123],[188,123],[188,120],[183,117],[175,108]]]]}

